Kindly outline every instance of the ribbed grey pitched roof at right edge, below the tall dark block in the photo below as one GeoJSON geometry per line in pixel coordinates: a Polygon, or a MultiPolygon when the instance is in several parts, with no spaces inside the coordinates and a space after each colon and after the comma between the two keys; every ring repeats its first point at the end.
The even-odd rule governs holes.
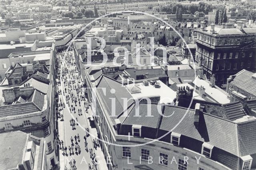
{"type": "Polygon", "coordinates": [[[235,75],[235,78],[230,82],[230,85],[236,86],[254,96],[256,96],[256,79],[252,78],[253,72],[241,70],[235,75]]]}

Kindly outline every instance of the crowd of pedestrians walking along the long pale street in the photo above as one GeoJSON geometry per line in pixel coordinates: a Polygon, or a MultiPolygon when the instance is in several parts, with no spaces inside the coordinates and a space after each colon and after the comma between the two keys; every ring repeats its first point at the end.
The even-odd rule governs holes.
{"type": "MultiPolygon", "coordinates": [[[[79,125],[78,116],[83,115],[82,107],[84,107],[83,109],[85,110],[85,113],[88,113],[88,108],[90,108],[89,102],[87,101],[84,95],[84,87],[81,83],[82,79],[79,76],[79,72],[76,68],[75,62],[76,61],[74,58],[73,51],[60,52],[57,54],[56,83],[58,85],[59,98],[58,117],[61,118],[61,121],[64,121],[64,112],[62,112],[62,110],[65,108],[66,104],[66,106],[68,106],[67,108],[70,110],[70,113],[73,117],[69,121],[70,126],[74,131],[76,131],[76,126],[79,125]]],[[[91,164],[88,164],[88,169],[98,170],[98,160],[96,158],[95,152],[93,151],[93,148],[96,149],[97,147],[100,147],[99,141],[97,138],[93,139],[93,148],[88,148],[88,137],[90,136],[88,127],[85,129],[85,135],[82,134],[82,136],[84,136],[85,150],[86,152],[90,153],[90,158],[92,162],[91,164]]],[[[75,134],[74,137],[70,136],[70,145],[64,144],[63,140],[59,139],[59,135],[57,135],[57,142],[58,147],[62,151],[63,156],[73,156],[74,154],[81,154],[81,140],[79,133],[75,134]]],[[[65,165],[64,170],[77,170],[76,160],[73,157],[70,160],[69,165],[65,165]]]]}

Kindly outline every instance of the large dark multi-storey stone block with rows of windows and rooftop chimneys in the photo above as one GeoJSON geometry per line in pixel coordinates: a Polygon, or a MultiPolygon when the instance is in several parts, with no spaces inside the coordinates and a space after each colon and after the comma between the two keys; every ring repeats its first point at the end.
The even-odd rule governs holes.
{"type": "Polygon", "coordinates": [[[210,24],[197,32],[195,62],[202,65],[207,78],[215,74],[216,84],[226,84],[230,75],[246,69],[256,70],[256,28],[246,27],[246,21],[210,24]]]}

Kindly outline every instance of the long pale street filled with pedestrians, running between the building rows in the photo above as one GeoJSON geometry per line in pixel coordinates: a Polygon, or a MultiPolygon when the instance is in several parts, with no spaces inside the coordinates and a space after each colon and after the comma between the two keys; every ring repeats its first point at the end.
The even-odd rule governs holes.
{"type": "Polygon", "coordinates": [[[96,128],[90,126],[92,110],[88,100],[84,97],[83,82],[76,70],[74,52],[58,53],[57,62],[59,74],[56,81],[58,82],[60,117],[58,119],[58,134],[60,144],[63,141],[63,146],[61,144],[59,150],[60,170],[65,170],[65,166],[68,170],[89,170],[89,164],[92,169],[107,170],[100,145],[96,146],[96,128]],[[87,136],[86,128],[90,133],[87,133],[87,136]],[[85,148],[84,136],[86,136],[88,150],[85,148]],[[93,140],[95,140],[95,147],[93,140]],[[64,153],[65,147],[67,147],[67,153],[64,153]],[[72,147],[74,153],[72,153],[72,147]],[[69,148],[71,148],[71,152],[69,148]],[[91,149],[92,157],[90,156],[91,149]]]}

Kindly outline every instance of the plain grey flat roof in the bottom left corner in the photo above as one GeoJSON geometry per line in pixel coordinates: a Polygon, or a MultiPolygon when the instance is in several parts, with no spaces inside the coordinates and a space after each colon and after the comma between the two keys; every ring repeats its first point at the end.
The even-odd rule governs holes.
{"type": "Polygon", "coordinates": [[[28,134],[21,131],[0,134],[0,167],[2,170],[17,168],[17,165],[22,163],[27,141],[28,134]]]}

